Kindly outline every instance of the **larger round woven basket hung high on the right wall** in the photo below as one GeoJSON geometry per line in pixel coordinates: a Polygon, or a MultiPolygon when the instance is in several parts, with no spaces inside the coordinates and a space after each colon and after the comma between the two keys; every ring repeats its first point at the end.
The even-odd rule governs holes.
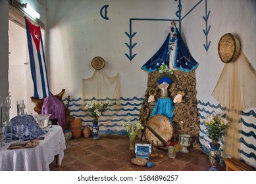
{"type": "Polygon", "coordinates": [[[218,56],[224,63],[231,62],[241,51],[240,41],[234,35],[227,33],[218,41],[218,56]]]}

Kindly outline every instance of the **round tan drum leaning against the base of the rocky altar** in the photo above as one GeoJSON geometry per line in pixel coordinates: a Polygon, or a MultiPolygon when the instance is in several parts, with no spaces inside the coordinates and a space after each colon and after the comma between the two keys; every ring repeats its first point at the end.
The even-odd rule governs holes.
{"type": "MultiPolygon", "coordinates": [[[[172,138],[173,127],[166,116],[162,114],[155,114],[149,118],[147,125],[157,132],[157,134],[159,134],[165,141],[172,138]]],[[[163,146],[163,143],[147,128],[145,129],[145,137],[147,141],[153,141],[153,145],[163,146]]]]}

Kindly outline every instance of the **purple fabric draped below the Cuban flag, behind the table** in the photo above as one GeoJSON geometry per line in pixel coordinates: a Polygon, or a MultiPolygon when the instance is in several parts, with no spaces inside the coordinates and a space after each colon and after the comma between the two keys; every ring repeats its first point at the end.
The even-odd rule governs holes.
{"type": "Polygon", "coordinates": [[[41,109],[41,114],[51,114],[50,120],[58,119],[58,125],[63,128],[66,127],[65,120],[65,108],[64,104],[57,99],[52,93],[50,93],[49,97],[46,97],[43,101],[43,106],[41,109]]]}

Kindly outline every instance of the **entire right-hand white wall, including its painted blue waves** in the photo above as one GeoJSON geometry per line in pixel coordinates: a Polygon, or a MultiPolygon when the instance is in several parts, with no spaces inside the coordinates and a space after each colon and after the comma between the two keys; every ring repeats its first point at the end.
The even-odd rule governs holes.
{"type": "MultiPolygon", "coordinates": [[[[196,0],[188,1],[183,5],[183,14],[190,11],[193,5],[197,3],[196,0]]],[[[211,41],[208,52],[205,51],[203,44],[206,41],[203,29],[205,29],[205,21],[202,16],[205,16],[205,1],[200,3],[195,9],[182,21],[183,36],[186,37],[186,43],[193,57],[199,62],[196,70],[197,77],[197,100],[203,103],[209,103],[217,106],[219,103],[212,96],[215,85],[224,67],[218,57],[218,41],[220,37],[228,32],[237,35],[242,45],[242,51],[251,62],[252,66],[256,68],[256,53],[254,36],[256,30],[256,1],[253,0],[226,0],[226,1],[207,1],[207,12],[210,12],[208,27],[211,30],[208,35],[208,41],[211,41]]],[[[250,79],[255,80],[255,79],[250,79]]],[[[249,89],[255,91],[255,89],[249,89]]],[[[214,108],[210,105],[198,104],[201,116],[206,117],[209,112],[221,113],[220,108],[214,108]]],[[[255,112],[256,108],[245,109],[243,112],[255,112]],[[252,111],[251,111],[252,110],[252,111]]],[[[249,116],[242,116],[243,120],[251,126],[242,124],[242,131],[240,137],[245,140],[245,143],[240,143],[240,150],[242,150],[242,158],[247,164],[256,167],[255,148],[256,139],[255,128],[256,118],[251,114],[249,116]],[[253,126],[254,125],[254,126],[253,126]],[[243,135],[246,134],[247,136],[243,135]],[[254,156],[253,156],[254,155],[254,156]]],[[[200,122],[203,119],[200,117],[200,122]]],[[[200,126],[200,136],[205,136],[205,126],[200,126]]],[[[200,142],[203,147],[209,148],[209,139],[205,136],[200,137],[200,142]]],[[[222,149],[222,147],[221,147],[222,149]]]]}

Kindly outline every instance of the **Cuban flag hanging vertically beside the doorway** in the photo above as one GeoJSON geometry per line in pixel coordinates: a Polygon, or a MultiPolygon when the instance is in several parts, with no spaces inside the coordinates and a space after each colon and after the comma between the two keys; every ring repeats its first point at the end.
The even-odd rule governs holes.
{"type": "Polygon", "coordinates": [[[26,17],[25,21],[28,53],[30,55],[30,70],[34,83],[34,98],[44,99],[49,96],[50,91],[40,26],[34,26],[26,17]]]}

